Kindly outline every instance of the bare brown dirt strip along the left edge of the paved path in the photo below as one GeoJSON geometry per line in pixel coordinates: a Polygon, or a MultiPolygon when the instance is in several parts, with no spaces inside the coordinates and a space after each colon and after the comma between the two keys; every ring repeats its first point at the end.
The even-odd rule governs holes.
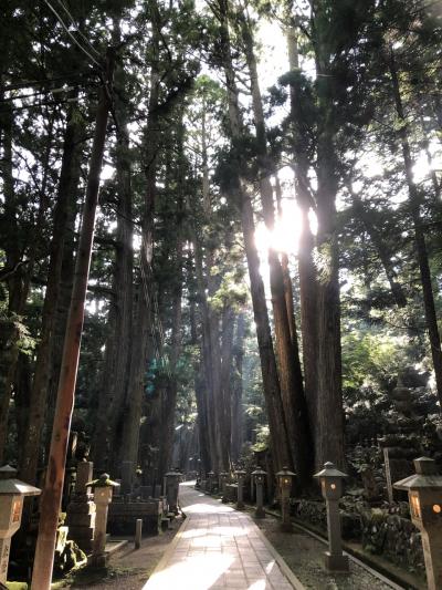
{"type": "Polygon", "coordinates": [[[81,588],[83,590],[141,590],[161,559],[170,541],[177,534],[181,518],[177,518],[171,529],[157,537],[145,537],[139,549],[134,542],[112,556],[107,568],[93,570],[83,568],[71,577],[53,583],[52,589],[81,588]]]}

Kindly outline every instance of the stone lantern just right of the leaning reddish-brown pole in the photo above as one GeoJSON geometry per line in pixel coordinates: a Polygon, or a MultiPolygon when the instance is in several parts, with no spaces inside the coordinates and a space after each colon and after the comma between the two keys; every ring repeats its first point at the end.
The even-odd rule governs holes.
{"type": "Polygon", "coordinates": [[[109,479],[108,474],[102,474],[98,479],[88,482],[87,487],[94,488],[94,503],[96,506],[95,534],[92,549],[91,562],[96,567],[106,566],[106,529],[107,529],[107,510],[112,503],[114,487],[119,484],[109,479]]]}

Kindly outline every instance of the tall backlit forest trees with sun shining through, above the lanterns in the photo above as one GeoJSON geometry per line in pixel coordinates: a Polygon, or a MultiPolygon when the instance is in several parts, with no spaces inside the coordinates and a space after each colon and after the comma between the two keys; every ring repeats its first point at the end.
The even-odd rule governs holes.
{"type": "Polygon", "coordinates": [[[3,3],[3,463],[41,483],[62,398],[63,467],[75,432],[145,484],[267,452],[308,489],[403,416],[430,448],[441,33],[429,0],[3,3]]]}

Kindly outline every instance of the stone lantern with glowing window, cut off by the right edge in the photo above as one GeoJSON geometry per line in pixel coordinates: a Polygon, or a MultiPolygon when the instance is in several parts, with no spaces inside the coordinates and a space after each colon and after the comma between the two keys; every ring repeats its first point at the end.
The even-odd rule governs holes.
{"type": "Polygon", "coordinates": [[[415,475],[394,484],[408,491],[413,525],[421,531],[429,590],[442,588],[442,476],[433,459],[414,459],[415,475]]]}

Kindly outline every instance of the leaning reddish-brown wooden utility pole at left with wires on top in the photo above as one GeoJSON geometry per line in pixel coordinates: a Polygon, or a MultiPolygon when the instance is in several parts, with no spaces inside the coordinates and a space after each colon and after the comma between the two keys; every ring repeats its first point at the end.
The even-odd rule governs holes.
{"type": "Polygon", "coordinates": [[[63,493],[71,418],[74,408],[84,306],[94,240],[95,213],[98,203],[99,174],[102,170],[107,120],[110,108],[113,70],[114,52],[109,49],[96,112],[95,135],[87,178],[86,199],[84,203],[83,225],[76,256],[66,333],[64,337],[63,359],[56,394],[46,479],[40,507],[39,537],[36,539],[31,590],[50,590],[51,588],[56,528],[63,493]]]}

